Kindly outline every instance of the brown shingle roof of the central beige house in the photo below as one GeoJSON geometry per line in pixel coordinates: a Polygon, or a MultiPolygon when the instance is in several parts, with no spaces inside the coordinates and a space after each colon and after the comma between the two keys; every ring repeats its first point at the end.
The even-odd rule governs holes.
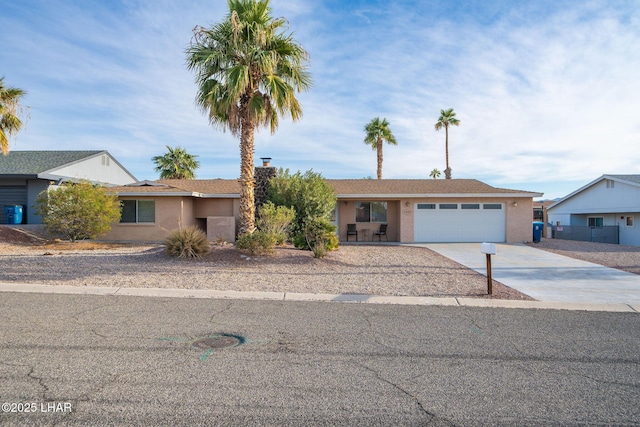
{"type": "MultiPolygon", "coordinates": [[[[327,179],[338,198],[430,197],[430,196],[512,196],[540,197],[541,193],[496,188],[475,179],[327,179]]],[[[235,179],[164,179],[113,187],[121,196],[240,197],[235,179]]]]}

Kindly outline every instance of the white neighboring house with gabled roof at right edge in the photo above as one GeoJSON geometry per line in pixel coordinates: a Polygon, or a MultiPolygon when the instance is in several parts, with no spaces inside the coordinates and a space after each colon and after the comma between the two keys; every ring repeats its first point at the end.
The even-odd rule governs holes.
{"type": "Polygon", "coordinates": [[[613,227],[618,237],[613,243],[640,246],[640,226],[635,221],[640,219],[640,175],[602,175],[553,203],[547,215],[556,237],[567,226],[582,227],[588,233],[576,240],[611,242],[595,233],[613,227]]]}

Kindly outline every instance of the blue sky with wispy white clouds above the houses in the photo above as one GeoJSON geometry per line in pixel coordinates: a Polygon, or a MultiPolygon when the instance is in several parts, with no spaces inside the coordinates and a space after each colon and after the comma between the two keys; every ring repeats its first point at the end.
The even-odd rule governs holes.
{"type": "MultiPolygon", "coordinates": [[[[375,177],[366,123],[386,117],[384,178],[454,178],[562,197],[604,173],[640,173],[640,4],[629,1],[272,0],[309,52],[301,121],[256,134],[256,162],[375,177]],[[444,175],[444,174],[443,174],[444,175]]],[[[184,50],[212,0],[0,0],[0,75],[28,91],[13,150],[106,149],[138,179],[166,145],[198,178],[239,176],[238,140],[195,106],[184,50]]]]}

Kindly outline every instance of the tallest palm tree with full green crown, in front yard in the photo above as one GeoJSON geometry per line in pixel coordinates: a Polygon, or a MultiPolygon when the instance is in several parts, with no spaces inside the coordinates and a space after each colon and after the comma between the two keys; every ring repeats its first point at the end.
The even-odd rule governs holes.
{"type": "Polygon", "coordinates": [[[311,87],[309,55],[273,18],[269,0],[227,0],[229,14],[211,28],[196,27],[186,50],[195,71],[196,103],[209,122],[240,137],[240,234],[255,230],[254,132],[275,133],[278,116],[302,117],[295,92],[311,87]]]}

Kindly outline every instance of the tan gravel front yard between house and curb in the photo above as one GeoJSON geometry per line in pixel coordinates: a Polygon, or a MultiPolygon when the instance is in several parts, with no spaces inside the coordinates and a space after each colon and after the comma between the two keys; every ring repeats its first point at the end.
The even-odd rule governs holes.
{"type": "MultiPolygon", "coordinates": [[[[3,238],[1,232],[0,242],[2,282],[488,298],[485,276],[426,248],[343,245],[315,259],[293,247],[253,257],[225,245],[183,260],[167,256],[160,245],[47,245],[3,238]]],[[[495,281],[493,293],[498,299],[532,299],[495,281]]]]}

